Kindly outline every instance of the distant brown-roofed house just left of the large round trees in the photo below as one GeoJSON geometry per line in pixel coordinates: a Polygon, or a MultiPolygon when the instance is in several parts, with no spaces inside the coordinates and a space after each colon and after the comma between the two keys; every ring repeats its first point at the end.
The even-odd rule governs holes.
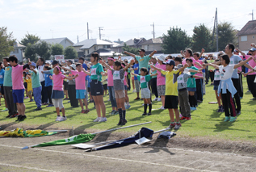
{"type": "Polygon", "coordinates": [[[150,54],[154,50],[157,50],[157,53],[162,53],[162,38],[152,38],[139,43],[138,46],[145,49],[146,54],[150,54]]]}

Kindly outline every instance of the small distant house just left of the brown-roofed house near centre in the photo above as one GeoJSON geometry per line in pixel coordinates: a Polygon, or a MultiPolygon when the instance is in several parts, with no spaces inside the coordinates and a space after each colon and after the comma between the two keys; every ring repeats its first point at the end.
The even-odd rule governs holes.
{"type": "Polygon", "coordinates": [[[131,40],[128,40],[120,45],[114,46],[113,48],[111,48],[114,52],[124,52],[123,47],[124,44],[133,47],[133,48],[141,48],[141,45],[139,45],[140,43],[145,42],[145,38],[133,38],[131,40]]]}

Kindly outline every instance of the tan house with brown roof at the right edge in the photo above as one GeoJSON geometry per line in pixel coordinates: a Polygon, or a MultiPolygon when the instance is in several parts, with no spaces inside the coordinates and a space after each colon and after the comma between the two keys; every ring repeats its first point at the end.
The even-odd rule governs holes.
{"type": "Polygon", "coordinates": [[[241,51],[246,51],[250,49],[251,43],[256,43],[256,20],[251,20],[244,27],[241,28],[241,31],[238,31],[238,47],[241,51]]]}

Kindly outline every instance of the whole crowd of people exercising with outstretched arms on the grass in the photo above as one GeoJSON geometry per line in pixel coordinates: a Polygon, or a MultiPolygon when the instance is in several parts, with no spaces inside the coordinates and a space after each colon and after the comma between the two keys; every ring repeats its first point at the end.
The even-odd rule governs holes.
{"type": "Polygon", "coordinates": [[[204,101],[205,85],[210,78],[219,107],[217,112],[225,112],[225,121],[233,122],[241,114],[242,75],[247,79],[253,100],[256,99],[256,46],[251,46],[245,54],[233,44],[227,44],[225,52],[220,52],[218,57],[205,56],[204,48],[202,52],[194,53],[187,48],[178,57],[156,57],[157,51],[145,55],[145,50],[141,49],[139,56],[124,52],[132,57],[129,63],[121,57],[107,57],[107,61],[103,61],[97,52],[91,54],[90,61],[80,57],[75,64],[70,60],[66,64],[58,61],[49,64],[39,58],[36,63],[28,59],[26,65],[19,65],[17,57],[6,57],[0,62],[1,93],[6,102],[3,111],[9,111],[6,117],[23,121],[26,119],[23,99],[29,98],[30,102],[36,103],[35,111],[42,110],[42,105],[54,106],[56,120],[64,121],[67,117],[63,99],[69,99],[72,107],[80,105],[81,113],[90,112],[88,100],[94,103],[97,111],[94,122],[106,122],[103,95],[108,90],[111,115],[119,114],[118,125],[124,125],[128,122],[126,113],[131,107],[128,90],[133,88],[135,100],[144,100],[142,115],[152,115],[154,94],[153,101],[162,102],[159,109],[169,111],[170,128],[178,129],[180,120],[191,120],[191,111],[204,101]]]}

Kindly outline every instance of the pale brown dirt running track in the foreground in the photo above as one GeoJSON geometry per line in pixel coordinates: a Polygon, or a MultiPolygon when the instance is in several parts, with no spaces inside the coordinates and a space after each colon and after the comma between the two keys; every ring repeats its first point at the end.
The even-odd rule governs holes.
{"type": "MultiPolygon", "coordinates": [[[[0,171],[255,171],[256,157],[192,149],[128,145],[85,152],[70,145],[21,150],[67,134],[0,138],[0,171]]],[[[174,138],[173,138],[174,139],[174,138]]]]}

